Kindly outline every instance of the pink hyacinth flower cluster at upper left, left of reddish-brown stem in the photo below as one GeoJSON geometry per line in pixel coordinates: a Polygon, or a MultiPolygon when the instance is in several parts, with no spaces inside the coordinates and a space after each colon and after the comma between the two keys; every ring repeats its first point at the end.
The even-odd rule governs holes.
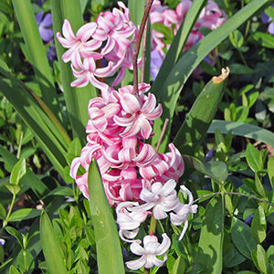
{"type": "MultiPolygon", "coordinates": [[[[129,9],[121,2],[123,12],[113,8],[112,12],[100,13],[96,22],[81,26],[76,35],[65,20],[62,32],[57,34],[59,43],[68,48],[63,54],[64,62],[71,62],[73,75],[77,78],[72,87],[84,87],[89,82],[100,90],[108,85],[102,78],[118,75],[112,86],[118,85],[125,76],[125,68],[132,68],[134,44],[138,28],[130,20],[129,9]],[[102,63],[106,63],[102,66],[102,63]]],[[[140,63],[140,62],[139,62],[140,63]]]]}

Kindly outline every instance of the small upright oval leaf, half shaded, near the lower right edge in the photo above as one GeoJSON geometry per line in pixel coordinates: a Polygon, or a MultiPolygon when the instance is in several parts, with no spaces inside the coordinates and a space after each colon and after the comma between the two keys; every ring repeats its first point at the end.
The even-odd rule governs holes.
{"type": "Polygon", "coordinates": [[[267,220],[264,209],[259,205],[256,210],[252,223],[251,223],[251,235],[257,244],[263,242],[267,237],[267,220]]]}

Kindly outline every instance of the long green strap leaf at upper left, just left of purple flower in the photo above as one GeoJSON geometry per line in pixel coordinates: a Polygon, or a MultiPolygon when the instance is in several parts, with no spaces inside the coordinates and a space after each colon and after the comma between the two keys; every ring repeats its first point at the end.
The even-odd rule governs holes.
{"type": "Polygon", "coordinates": [[[26,43],[26,58],[34,68],[37,82],[42,92],[42,99],[47,104],[47,107],[61,119],[57,91],[30,0],[13,0],[13,5],[26,43]]]}

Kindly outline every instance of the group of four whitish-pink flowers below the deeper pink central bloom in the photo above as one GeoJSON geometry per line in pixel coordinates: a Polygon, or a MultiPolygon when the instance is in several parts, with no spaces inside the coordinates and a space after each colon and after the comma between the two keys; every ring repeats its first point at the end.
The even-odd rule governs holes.
{"type": "Polygon", "coordinates": [[[143,188],[140,194],[140,205],[137,202],[123,202],[116,208],[117,224],[121,239],[130,242],[132,253],[142,256],[126,262],[129,269],[140,269],[142,267],[151,269],[153,266],[162,267],[167,259],[165,252],[170,248],[171,240],[163,234],[163,243],[158,243],[157,237],[148,235],[143,237],[143,248],[139,239],[133,239],[139,232],[139,227],[147,216],[153,216],[156,220],[166,218],[169,213],[170,221],[174,226],[181,226],[184,223],[183,231],[179,237],[181,240],[188,227],[188,217],[196,213],[197,205],[193,205],[193,195],[184,186],[181,190],[188,195],[188,204],[183,204],[177,197],[175,191],[176,182],[170,179],[165,184],[155,182],[151,190],[143,188]],[[156,256],[163,255],[163,260],[156,256]]]}

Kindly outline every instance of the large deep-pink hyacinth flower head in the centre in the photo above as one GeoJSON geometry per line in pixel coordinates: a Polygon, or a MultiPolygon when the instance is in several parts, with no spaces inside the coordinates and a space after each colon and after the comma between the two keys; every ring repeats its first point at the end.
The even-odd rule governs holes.
{"type": "Polygon", "coordinates": [[[109,203],[116,206],[123,201],[139,201],[142,188],[151,189],[154,182],[176,182],[184,172],[181,154],[169,144],[169,153],[157,153],[149,139],[153,121],[162,114],[156,106],[149,84],[139,84],[139,93],[132,86],[119,90],[102,90],[102,97],[90,100],[90,120],[86,128],[87,144],[71,163],[70,175],[80,191],[89,198],[88,173],[95,158],[109,203]],[[79,166],[86,173],[78,174],[79,166]]]}

